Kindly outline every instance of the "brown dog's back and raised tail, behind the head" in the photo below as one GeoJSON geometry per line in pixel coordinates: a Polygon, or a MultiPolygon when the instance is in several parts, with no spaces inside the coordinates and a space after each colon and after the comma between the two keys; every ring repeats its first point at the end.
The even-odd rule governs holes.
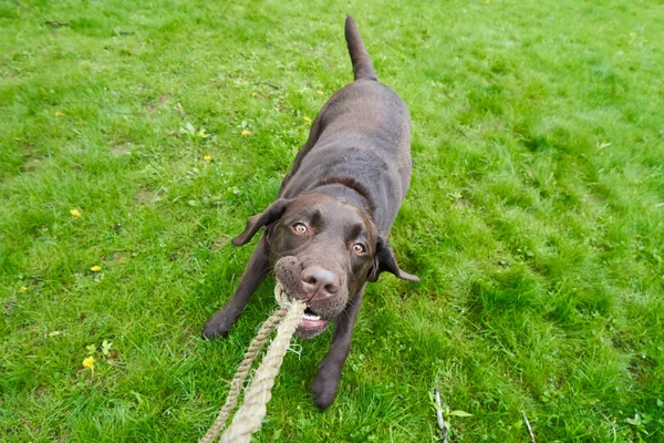
{"type": "Polygon", "coordinates": [[[315,117],[280,196],[321,192],[324,185],[331,185],[324,189],[330,192],[351,187],[365,197],[366,209],[386,234],[411,182],[411,120],[400,96],[377,81],[350,16],[345,38],[355,81],[339,90],[315,117]]]}

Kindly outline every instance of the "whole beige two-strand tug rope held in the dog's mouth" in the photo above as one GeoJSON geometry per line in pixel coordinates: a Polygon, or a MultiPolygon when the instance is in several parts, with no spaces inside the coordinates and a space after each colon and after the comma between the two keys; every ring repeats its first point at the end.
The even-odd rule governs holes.
{"type": "Polygon", "coordinates": [[[290,300],[279,280],[277,280],[277,285],[274,286],[274,298],[277,298],[280,309],[276,310],[268,318],[260,327],[251,344],[249,344],[249,349],[245,353],[245,358],[230,383],[230,391],[228,392],[226,403],[221,408],[221,411],[219,411],[215,424],[200,439],[200,443],[211,443],[219,435],[238,402],[240,390],[245,384],[247,375],[249,375],[253,360],[268,342],[274,328],[279,326],[277,337],[270,343],[266,356],[253,374],[251,384],[245,393],[245,403],[236,412],[232,421],[219,437],[219,442],[249,442],[251,435],[260,429],[262,419],[267,412],[266,405],[272,398],[271,391],[274,385],[274,378],[279,373],[283,356],[307,308],[307,305],[301,300],[290,300]]]}

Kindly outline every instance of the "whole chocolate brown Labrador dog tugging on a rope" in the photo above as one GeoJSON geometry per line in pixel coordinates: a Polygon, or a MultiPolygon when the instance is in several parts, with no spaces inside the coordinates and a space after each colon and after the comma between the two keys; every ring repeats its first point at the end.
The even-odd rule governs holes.
{"type": "Polygon", "coordinates": [[[286,292],[307,301],[295,334],[312,338],[334,321],[330,350],[312,384],[326,409],[341,371],[367,281],[403,271],[387,235],[411,183],[411,117],[400,96],[380,83],[357,27],[345,21],[355,81],[318,114],[309,138],[283,179],[277,200],[247,220],[232,240],[247,244],[264,227],[240,284],[208,319],[204,337],[226,336],[270,269],[286,292]]]}

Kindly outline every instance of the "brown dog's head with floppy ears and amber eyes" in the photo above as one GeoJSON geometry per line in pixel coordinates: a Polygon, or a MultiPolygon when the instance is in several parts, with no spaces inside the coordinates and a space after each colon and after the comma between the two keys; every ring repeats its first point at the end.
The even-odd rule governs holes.
{"type": "Polygon", "coordinates": [[[382,271],[417,280],[398,268],[370,215],[341,198],[308,194],[279,199],[251,217],[234,245],[246,244],[263,225],[276,277],[289,296],[308,305],[300,337],[324,331],[365,281],[375,281],[382,271]]]}

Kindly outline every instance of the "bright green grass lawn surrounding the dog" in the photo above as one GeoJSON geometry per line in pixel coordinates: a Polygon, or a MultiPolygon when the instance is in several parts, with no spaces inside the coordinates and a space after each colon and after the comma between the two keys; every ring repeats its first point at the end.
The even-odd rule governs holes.
{"type": "Polygon", "coordinates": [[[529,442],[521,411],[538,442],[664,442],[647,0],[0,2],[0,440],[205,433],[273,308],[270,280],[227,340],[199,338],[251,253],[229,239],[351,80],[346,12],[412,113],[392,243],[422,282],[370,287],[324,413],[331,334],[298,341],[256,440],[440,440],[438,377],[473,414],[448,414],[454,442],[529,442]]]}

